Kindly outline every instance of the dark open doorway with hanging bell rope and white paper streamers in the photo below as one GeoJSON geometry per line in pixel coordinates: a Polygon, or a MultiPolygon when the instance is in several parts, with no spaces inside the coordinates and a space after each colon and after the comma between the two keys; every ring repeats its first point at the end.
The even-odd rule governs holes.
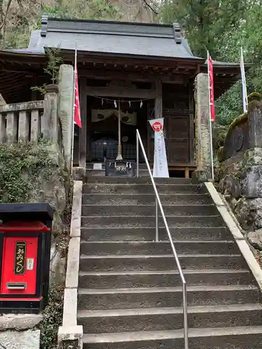
{"type": "Polygon", "coordinates": [[[91,103],[91,161],[115,160],[120,140],[122,157],[136,161],[136,128],[147,121],[147,104],[135,98],[89,97],[91,103]],[[119,119],[120,118],[120,125],[119,119]]]}

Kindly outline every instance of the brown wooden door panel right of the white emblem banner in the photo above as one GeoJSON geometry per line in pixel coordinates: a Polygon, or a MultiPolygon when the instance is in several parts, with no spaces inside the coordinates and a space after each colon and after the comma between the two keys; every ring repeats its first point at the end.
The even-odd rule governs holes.
{"type": "Polygon", "coordinates": [[[190,163],[189,115],[165,115],[168,165],[190,163]]]}

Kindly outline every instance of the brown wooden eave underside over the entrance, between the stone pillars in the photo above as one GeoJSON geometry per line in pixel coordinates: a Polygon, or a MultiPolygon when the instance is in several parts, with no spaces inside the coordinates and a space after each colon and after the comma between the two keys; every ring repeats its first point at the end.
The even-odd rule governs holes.
{"type": "MultiPolygon", "coordinates": [[[[74,53],[63,50],[64,62],[74,64],[74,53]]],[[[166,57],[137,57],[122,54],[78,52],[78,75],[94,79],[173,82],[187,84],[194,78],[200,61],[166,57]]]]}

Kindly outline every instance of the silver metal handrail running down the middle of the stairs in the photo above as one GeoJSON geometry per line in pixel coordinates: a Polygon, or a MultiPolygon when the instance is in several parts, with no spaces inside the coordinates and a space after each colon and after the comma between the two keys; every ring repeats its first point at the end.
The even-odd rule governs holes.
{"type": "Polygon", "coordinates": [[[138,177],[138,174],[139,174],[139,144],[140,144],[140,147],[142,149],[142,152],[143,152],[143,156],[145,158],[145,163],[147,165],[147,170],[150,174],[150,179],[152,181],[152,186],[154,188],[154,194],[156,195],[156,241],[158,242],[159,241],[159,226],[158,226],[158,207],[161,211],[161,215],[162,215],[162,218],[163,218],[163,223],[165,225],[165,228],[166,228],[166,232],[168,233],[168,238],[169,238],[169,242],[171,244],[171,248],[172,248],[172,251],[173,251],[173,255],[175,257],[175,262],[177,264],[177,269],[178,269],[178,272],[180,274],[180,279],[182,281],[182,290],[183,290],[183,313],[184,313],[184,349],[189,349],[189,336],[188,336],[188,322],[187,322],[187,283],[184,279],[184,274],[182,272],[182,267],[180,265],[180,261],[178,259],[178,256],[177,256],[177,251],[175,250],[175,245],[173,243],[173,239],[171,237],[171,234],[170,234],[170,230],[168,228],[168,223],[166,221],[166,216],[163,212],[163,207],[162,207],[162,204],[161,204],[161,201],[160,201],[160,198],[159,198],[159,193],[157,191],[157,186],[155,184],[155,181],[154,181],[154,177],[152,176],[152,172],[150,170],[150,164],[148,163],[148,160],[147,160],[147,155],[145,154],[145,148],[143,146],[143,142],[141,140],[141,137],[140,137],[140,133],[138,131],[138,129],[136,130],[136,177],[138,177]]]}

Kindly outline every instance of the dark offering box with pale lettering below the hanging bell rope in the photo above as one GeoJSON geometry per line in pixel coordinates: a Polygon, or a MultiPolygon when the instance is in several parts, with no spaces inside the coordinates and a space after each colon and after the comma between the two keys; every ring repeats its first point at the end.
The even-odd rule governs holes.
{"type": "Polygon", "coordinates": [[[135,177],[135,161],[110,161],[105,162],[105,176],[135,177]]]}

